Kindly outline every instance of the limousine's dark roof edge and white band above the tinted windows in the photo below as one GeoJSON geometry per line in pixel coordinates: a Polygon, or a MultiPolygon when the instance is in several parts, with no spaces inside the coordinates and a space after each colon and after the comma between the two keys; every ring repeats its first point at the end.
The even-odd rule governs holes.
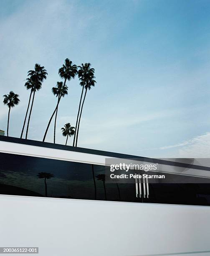
{"type": "Polygon", "coordinates": [[[160,168],[163,170],[162,172],[164,173],[181,175],[193,174],[193,176],[195,177],[210,178],[210,167],[207,166],[198,166],[193,164],[185,164],[162,159],[152,159],[142,156],[132,156],[127,154],[119,154],[89,148],[65,146],[61,144],[26,140],[7,136],[0,136],[0,152],[8,154],[22,154],[25,156],[57,159],[62,161],[77,161],[81,163],[98,165],[105,165],[106,158],[118,158],[125,160],[135,159],[137,161],[144,161],[147,163],[157,163],[159,164],[160,168]],[[175,166],[176,168],[174,168],[175,166]],[[185,170],[186,168],[191,171],[183,172],[183,170],[185,170]],[[170,170],[167,171],[167,169],[170,170]],[[197,175],[197,170],[201,170],[202,173],[200,175],[197,175]]]}

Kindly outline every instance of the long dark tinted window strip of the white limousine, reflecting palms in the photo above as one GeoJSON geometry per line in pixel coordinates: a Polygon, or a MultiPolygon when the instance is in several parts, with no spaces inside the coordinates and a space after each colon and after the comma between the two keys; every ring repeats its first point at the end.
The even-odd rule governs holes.
{"type": "Polygon", "coordinates": [[[199,178],[197,183],[152,183],[148,179],[149,198],[137,198],[135,184],[107,183],[105,173],[101,165],[0,153],[0,194],[210,205],[210,184],[199,178]]]}

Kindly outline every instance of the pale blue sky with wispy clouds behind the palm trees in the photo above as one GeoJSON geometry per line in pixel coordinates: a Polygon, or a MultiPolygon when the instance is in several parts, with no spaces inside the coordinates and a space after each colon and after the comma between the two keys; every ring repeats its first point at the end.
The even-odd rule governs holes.
{"type": "MultiPolygon", "coordinates": [[[[13,90],[10,136],[19,137],[35,63],[48,72],[35,95],[28,138],[42,140],[56,105],[51,88],[64,59],[90,62],[78,146],[150,157],[210,157],[210,2],[208,0],[1,0],[0,92],[13,90]]],[[[76,123],[78,79],[58,112],[76,123]]],[[[3,99],[3,98],[2,98],[3,99]]],[[[0,129],[8,108],[0,104],[0,129]]],[[[47,141],[53,141],[53,125],[47,141]]],[[[71,145],[72,140],[69,141],[71,145]]]]}

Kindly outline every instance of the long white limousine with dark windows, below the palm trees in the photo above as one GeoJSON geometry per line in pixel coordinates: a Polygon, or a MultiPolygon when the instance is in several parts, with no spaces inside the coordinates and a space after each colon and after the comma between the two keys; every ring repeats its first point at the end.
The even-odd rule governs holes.
{"type": "Polygon", "coordinates": [[[0,247],[38,247],[41,256],[210,255],[209,173],[208,165],[0,136],[0,247]],[[107,182],[109,158],[158,163],[171,182],[107,182]],[[178,181],[176,170],[192,182],[178,181]]]}

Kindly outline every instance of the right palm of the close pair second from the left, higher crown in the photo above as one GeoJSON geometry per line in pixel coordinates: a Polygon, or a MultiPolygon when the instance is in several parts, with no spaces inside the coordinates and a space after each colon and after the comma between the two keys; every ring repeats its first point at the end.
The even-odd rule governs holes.
{"type": "Polygon", "coordinates": [[[46,69],[44,69],[44,67],[41,67],[40,64],[37,64],[37,63],[35,64],[34,70],[28,71],[28,77],[30,78],[31,82],[33,83],[33,98],[32,98],[30,113],[29,113],[29,117],[28,117],[28,124],[27,124],[27,129],[26,129],[26,134],[25,134],[26,139],[28,136],[30,115],[31,115],[31,111],[33,108],[35,92],[41,89],[42,82],[44,79],[47,78],[47,75],[48,75],[48,73],[47,73],[46,69]]]}

